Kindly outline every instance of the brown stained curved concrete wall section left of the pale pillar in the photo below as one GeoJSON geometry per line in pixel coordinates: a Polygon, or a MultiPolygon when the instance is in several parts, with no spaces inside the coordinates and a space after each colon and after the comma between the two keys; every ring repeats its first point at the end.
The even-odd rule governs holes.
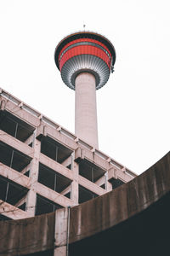
{"type": "Polygon", "coordinates": [[[54,247],[54,212],[0,222],[0,254],[22,255],[54,247]]]}

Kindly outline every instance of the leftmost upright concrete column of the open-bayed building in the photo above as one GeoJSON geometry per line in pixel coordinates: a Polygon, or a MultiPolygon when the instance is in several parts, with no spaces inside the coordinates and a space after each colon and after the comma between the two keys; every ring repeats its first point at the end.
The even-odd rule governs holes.
{"type": "Polygon", "coordinates": [[[38,141],[35,137],[36,137],[36,131],[34,133],[34,140],[33,140],[34,157],[31,160],[31,169],[30,169],[31,188],[28,191],[27,199],[26,199],[26,212],[28,212],[31,217],[35,216],[35,212],[36,212],[37,180],[38,180],[39,158],[40,158],[40,150],[41,150],[41,142],[38,141]]]}

